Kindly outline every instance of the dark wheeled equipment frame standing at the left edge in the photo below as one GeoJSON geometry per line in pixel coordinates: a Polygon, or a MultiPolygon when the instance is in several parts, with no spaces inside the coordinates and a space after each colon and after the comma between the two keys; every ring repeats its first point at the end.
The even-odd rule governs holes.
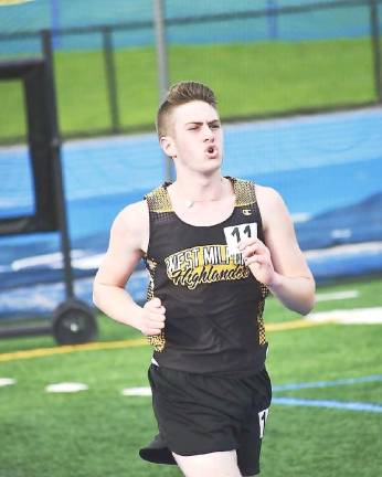
{"type": "Polygon", "coordinates": [[[97,324],[92,308],[76,299],[73,292],[51,33],[45,31],[42,38],[43,57],[0,63],[0,81],[23,83],[35,204],[33,214],[1,219],[0,235],[59,232],[66,300],[53,311],[51,325],[3,329],[0,338],[53,333],[59,344],[74,344],[94,340],[97,324]]]}

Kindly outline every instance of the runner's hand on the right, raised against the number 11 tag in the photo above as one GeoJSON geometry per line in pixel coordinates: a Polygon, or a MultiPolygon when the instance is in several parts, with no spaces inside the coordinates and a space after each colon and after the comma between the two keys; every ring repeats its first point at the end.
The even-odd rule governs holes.
{"type": "Polygon", "coordinates": [[[258,239],[244,239],[238,243],[244,264],[250,267],[257,282],[270,285],[276,279],[276,272],[272,263],[270,252],[258,239]]]}

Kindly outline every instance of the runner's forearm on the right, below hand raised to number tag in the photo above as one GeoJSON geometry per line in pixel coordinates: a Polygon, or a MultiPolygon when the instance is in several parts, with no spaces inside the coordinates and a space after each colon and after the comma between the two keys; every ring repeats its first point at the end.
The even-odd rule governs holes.
{"type": "Polygon", "coordinates": [[[287,277],[275,272],[268,285],[272,294],[287,308],[307,315],[315,305],[315,280],[312,277],[287,277]]]}

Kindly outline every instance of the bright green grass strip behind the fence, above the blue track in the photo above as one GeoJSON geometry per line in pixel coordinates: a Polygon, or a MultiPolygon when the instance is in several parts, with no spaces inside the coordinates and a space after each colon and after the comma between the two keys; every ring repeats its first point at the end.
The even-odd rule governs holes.
{"type": "MultiPolygon", "coordinates": [[[[152,47],[115,52],[123,128],[153,125],[158,105],[152,47]]],[[[375,100],[370,39],[169,47],[170,82],[197,80],[216,92],[223,118],[375,100]]],[[[64,134],[110,126],[102,51],[56,52],[64,134]]],[[[0,84],[7,110],[0,139],[23,135],[21,85],[0,84]]]]}

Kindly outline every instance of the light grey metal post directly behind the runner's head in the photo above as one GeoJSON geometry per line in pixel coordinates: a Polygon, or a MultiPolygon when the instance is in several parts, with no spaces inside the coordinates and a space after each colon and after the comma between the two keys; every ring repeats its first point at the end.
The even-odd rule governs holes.
{"type": "MultiPolygon", "coordinates": [[[[156,31],[159,103],[161,103],[169,87],[163,0],[153,0],[153,23],[156,31]]],[[[172,181],[173,178],[172,161],[168,156],[165,156],[165,178],[167,181],[172,181]]]]}

